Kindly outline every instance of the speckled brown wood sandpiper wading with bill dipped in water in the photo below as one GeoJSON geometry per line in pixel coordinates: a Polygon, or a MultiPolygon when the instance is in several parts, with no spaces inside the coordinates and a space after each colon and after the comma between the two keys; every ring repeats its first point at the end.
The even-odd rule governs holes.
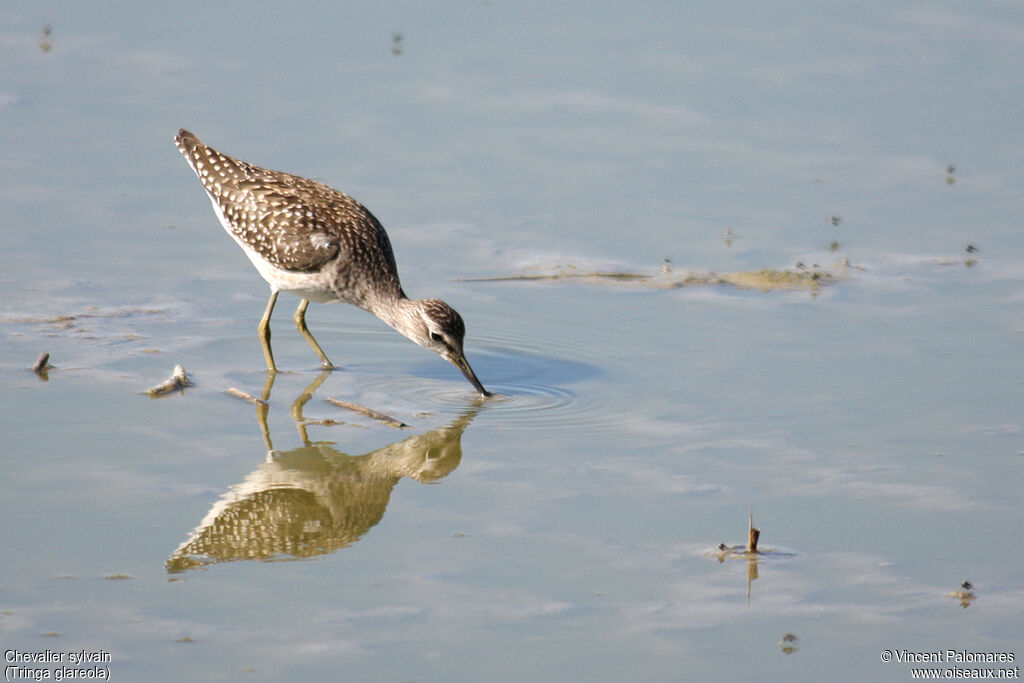
{"type": "Polygon", "coordinates": [[[481,396],[463,352],[466,325],[439,299],[410,299],[398,282],[394,252],[384,226],[351,197],[297,175],[270,171],[205,145],[187,130],[174,141],[210,196],[227,233],[270,284],[270,300],[259,324],[270,373],[270,313],[279,292],[299,297],[295,326],[326,369],[334,366],[306,327],[310,301],[343,301],[387,323],[462,371],[481,396]]]}

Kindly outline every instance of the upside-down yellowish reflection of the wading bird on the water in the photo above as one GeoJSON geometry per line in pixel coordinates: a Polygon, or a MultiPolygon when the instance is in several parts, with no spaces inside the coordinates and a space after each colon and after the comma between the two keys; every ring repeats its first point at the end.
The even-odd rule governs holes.
{"type": "Polygon", "coordinates": [[[384,516],[401,477],[427,483],[462,460],[462,433],[480,410],[472,405],[447,427],[411,436],[373,453],[349,456],[311,443],[303,407],[330,373],[322,373],[292,404],[303,445],[276,452],[267,427],[267,377],[256,416],[267,458],[211,508],[165,563],[168,572],[234,560],[287,560],[332,553],[351,545],[384,516]]]}

